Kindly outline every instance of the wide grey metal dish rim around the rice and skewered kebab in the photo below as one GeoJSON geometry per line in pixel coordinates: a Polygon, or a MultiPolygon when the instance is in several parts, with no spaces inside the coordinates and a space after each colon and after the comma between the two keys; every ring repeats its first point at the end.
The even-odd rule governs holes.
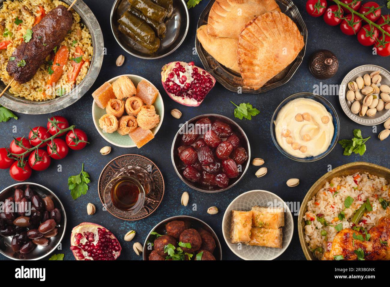
{"type": "MultiPolygon", "coordinates": [[[[73,2],[72,0],[62,1],[69,5],[73,2]]],[[[2,6],[3,2],[4,0],[0,0],[0,6],[2,6]]],[[[103,63],[103,34],[95,15],[89,9],[87,4],[85,4],[82,0],[77,0],[76,4],[73,5],[73,9],[80,15],[81,21],[84,25],[87,26],[92,36],[92,46],[94,48],[94,54],[92,56],[88,73],[85,75],[82,82],[76,86],[75,89],[77,89],[77,91],[43,102],[16,97],[6,91],[0,98],[0,105],[22,114],[47,114],[68,107],[79,100],[85,93],[87,93],[90,87],[92,87],[103,63]]],[[[5,86],[6,85],[0,81],[0,89],[3,90],[5,86]]]]}

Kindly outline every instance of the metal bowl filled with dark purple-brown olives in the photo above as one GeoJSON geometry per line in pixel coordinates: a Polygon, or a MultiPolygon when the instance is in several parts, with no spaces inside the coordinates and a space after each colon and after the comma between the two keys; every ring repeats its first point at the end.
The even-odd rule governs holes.
{"type": "Polygon", "coordinates": [[[0,253],[14,260],[48,256],[65,234],[58,197],[40,184],[13,184],[0,192],[0,253]]]}

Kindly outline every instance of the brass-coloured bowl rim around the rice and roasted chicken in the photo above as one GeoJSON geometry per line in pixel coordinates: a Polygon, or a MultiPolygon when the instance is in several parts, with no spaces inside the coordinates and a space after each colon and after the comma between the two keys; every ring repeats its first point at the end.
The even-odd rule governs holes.
{"type": "Polygon", "coordinates": [[[324,186],[324,184],[332,180],[332,178],[352,175],[357,172],[368,172],[372,175],[390,178],[390,169],[388,168],[368,162],[351,162],[349,164],[339,166],[338,168],[333,168],[332,171],[319,178],[319,180],[317,180],[316,183],[310,187],[305,198],[303,199],[298,215],[298,233],[299,241],[301,242],[301,247],[307,260],[317,260],[317,258],[310,251],[309,246],[305,240],[305,220],[303,219],[303,216],[307,212],[307,203],[313,198],[313,196],[316,195],[316,193],[324,186]]]}

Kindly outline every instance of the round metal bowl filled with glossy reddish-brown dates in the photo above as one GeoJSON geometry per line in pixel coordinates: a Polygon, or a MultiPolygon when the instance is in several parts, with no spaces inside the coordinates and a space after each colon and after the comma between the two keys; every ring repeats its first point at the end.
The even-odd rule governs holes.
{"type": "Polygon", "coordinates": [[[172,143],[172,163],[188,186],[206,193],[225,191],[244,176],[250,146],[243,129],[218,114],[187,121],[172,143]]]}

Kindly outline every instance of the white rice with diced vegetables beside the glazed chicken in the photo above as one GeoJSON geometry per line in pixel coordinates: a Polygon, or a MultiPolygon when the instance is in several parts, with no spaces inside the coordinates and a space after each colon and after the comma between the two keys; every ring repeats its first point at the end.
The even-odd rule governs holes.
{"type": "Polygon", "coordinates": [[[308,202],[303,217],[310,250],[321,259],[340,230],[370,230],[386,215],[389,201],[389,185],[383,177],[355,173],[326,182],[308,202]]]}

